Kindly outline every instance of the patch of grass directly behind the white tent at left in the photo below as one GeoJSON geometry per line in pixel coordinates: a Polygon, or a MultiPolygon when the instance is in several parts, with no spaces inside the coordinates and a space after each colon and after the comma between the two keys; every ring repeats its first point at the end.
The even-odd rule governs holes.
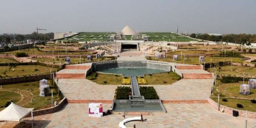
{"type": "Polygon", "coordinates": [[[0,91],[0,108],[3,108],[7,101],[13,100],[14,103],[18,102],[22,97],[15,92],[0,91]]]}

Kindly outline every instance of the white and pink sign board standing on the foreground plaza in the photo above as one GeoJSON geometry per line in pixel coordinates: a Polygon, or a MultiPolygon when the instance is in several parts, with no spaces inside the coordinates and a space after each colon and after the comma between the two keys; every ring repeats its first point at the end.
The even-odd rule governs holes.
{"type": "Polygon", "coordinates": [[[89,116],[90,117],[102,117],[103,116],[103,104],[102,103],[89,103],[89,116]]]}

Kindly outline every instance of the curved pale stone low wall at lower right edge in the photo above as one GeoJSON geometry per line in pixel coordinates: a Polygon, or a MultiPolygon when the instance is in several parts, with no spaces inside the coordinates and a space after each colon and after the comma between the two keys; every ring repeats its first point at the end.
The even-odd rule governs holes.
{"type": "MultiPolygon", "coordinates": [[[[207,100],[215,109],[218,110],[218,103],[217,102],[215,102],[211,98],[208,98],[207,100]]],[[[229,107],[224,106],[224,105],[220,105],[220,109],[224,109],[224,113],[227,113],[229,115],[233,115],[233,110],[238,111],[239,116],[246,117],[246,111],[243,111],[243,110],[232,109],[232,108],[229,108],[229,107]]],[[[248,118],[256,119],[256,112],[249,112],[248,111],[247,113],[248,113],[248,115],[247,115],[248,118]]]]}

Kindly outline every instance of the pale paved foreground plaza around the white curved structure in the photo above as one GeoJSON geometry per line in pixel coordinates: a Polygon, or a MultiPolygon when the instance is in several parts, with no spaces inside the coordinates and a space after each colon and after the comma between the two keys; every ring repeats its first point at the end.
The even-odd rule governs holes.
{"type": "MultiPolygon", "coordinates": [[[[103,111],[111,104],[103,104],[103,111]]],[[[244,117],[232,117],[216,111],[208,103],[164,104],[167,113],[143,116],[146,121],[131,121],[127,127],[244,127],[244,117]]],[[[122,114],[89,117],[88,103],[69,103],[59,112],[35,117],[35,127],[118,127],[122,114]]],[[[125,118],[136,116],[125,116],[125,118]]],[[[30,118],[25,118],[30,121],[30,118]]],[[[247,127],[256,127],[255,119],[248,119],[247,127]]]]}

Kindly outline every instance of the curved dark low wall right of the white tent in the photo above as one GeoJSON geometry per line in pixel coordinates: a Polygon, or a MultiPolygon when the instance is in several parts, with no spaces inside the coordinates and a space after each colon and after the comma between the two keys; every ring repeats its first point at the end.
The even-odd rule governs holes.
{"type": "MultiPolygon", "coordinates": [[[[33,116],[40,116],[40,115],[46,115],[46,114],[51,114],[51,113],[55,113],[58,110],[60,110],[62,108],[62,106],[67,102],[67,98],[64,97],[56,106],[53,106],[52,108],[49,109],[42,109],[42,110],[36,110],[33,111],[33,116]]],[[[29,114],[26,117],[31,117],[31,114],[29,114]]]]}

